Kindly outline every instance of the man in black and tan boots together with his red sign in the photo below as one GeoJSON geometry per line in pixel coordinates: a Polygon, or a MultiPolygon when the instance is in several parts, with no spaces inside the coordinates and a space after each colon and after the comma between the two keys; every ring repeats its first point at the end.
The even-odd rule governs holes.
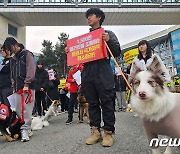
{"type": "Polygon", "coordinates": [[[67,41],[67,64],[84,63],[81,79],[81,93],[89,103],[91,136],[86,144],[95,144],[101,137],[101,109],[104,126],[102,146],[113,145],[112,133],[115,131],[115,114],[113,106],[114,77],[110,66],[110,55],[106,52],[104,41],[114,57],[120,56],[121,49],[116,35],[104,31],[101,25],[105,14],[99,8],[90,8],[85,14],[90,33],[67,41]],[[101,107],[100,107],[101,106],[101,107]]]}

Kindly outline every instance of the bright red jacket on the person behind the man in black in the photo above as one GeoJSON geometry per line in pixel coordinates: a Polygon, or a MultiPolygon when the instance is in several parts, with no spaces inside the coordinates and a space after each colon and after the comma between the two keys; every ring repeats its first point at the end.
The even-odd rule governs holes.
{"type": "Polygon", "coordinates": [[[72,80],[73,75],[79,70],[79,68],[77,66],[73,66],[68,73],[68,78],[67,78],[67,82],[70,83],[70,92],[71,93],[77,93],[78,92],[78,84],[75,82],[73,82],[72,80]]]}

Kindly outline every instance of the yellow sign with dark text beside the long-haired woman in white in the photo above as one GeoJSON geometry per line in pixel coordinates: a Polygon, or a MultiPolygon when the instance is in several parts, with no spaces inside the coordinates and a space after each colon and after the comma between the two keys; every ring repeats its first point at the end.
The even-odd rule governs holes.
{"type": "Polygon", "coordinates": [[[128,50],[124,53],[124,61],[125,64],[131,64],[134,60],[134,58],[139,54],[138,48],[128,50]]]}

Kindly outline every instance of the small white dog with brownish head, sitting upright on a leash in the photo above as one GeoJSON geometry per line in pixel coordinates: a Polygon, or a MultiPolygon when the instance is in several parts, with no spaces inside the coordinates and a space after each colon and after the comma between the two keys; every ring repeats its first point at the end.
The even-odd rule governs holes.
{"type": "Polygon", "coordinates": [[[59,100],[54,100],[52,104],[50,105],[48,111],[45,113],[45,116],[43,117],[42,120],[48,121],[51,116],[57,116],[58,113],[58,106],[61,104],[59,100]]]}

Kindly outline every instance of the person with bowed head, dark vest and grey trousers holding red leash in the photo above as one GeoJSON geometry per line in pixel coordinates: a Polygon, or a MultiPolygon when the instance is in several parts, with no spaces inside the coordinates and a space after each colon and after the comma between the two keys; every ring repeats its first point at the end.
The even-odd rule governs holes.
{"type": "Polygon", "coordinates": [[[34,107],[35,62],[33,54],[22,49],[13,37],[7,37],[3,45],[14,54],[10,63],[12,87],[15,96],[15,110],[21,122],[21,141],[29,141],[32,135],[31,122],[34,107]]]}

